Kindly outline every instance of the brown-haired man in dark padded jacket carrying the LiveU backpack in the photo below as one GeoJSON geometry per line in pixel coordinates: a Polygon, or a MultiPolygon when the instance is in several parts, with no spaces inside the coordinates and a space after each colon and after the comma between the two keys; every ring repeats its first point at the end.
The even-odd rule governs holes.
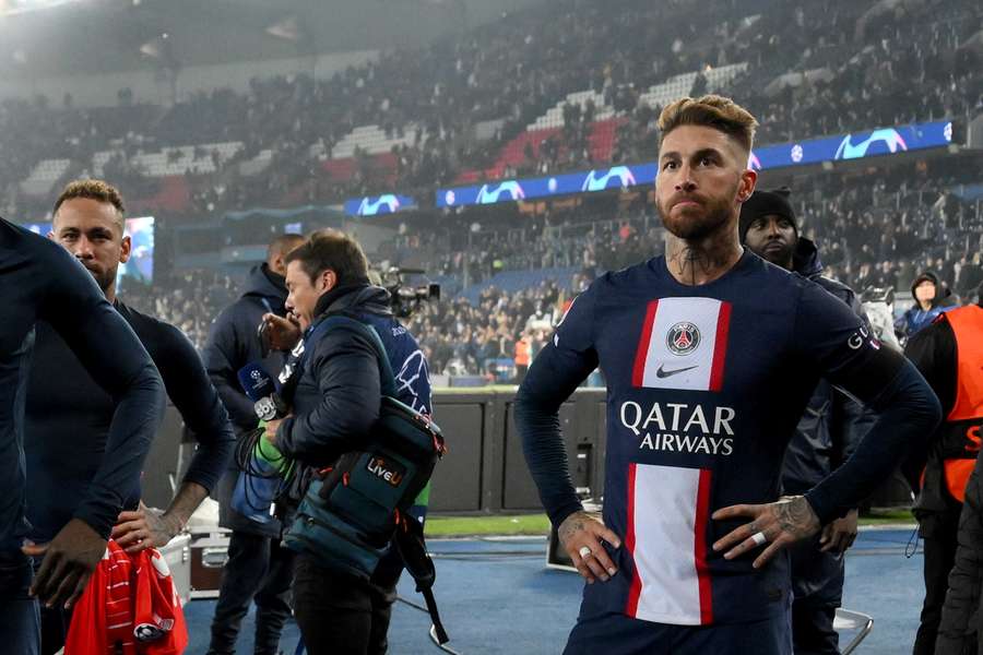
{"type": "MultiPolygon", "coordinates": [[[[286,307],[305,343],[294,350],[298,359],[287,365],[293,378],[284,395],[292,413],[270,421],[265,437],[284,455],[323,468],[367,442],[379,417],[381,384],[367,337],[346,330],[317,334],[320,321],[344,314],[372,326],[396,373],[399,400],[425,414],[430,409],[429,374],[416,340],[393,318],[388,291],[369,284],[368,262],[353,238],[332,229],[315,233],[286,263],[286,307]]],[[[294,611],[310,654],[384,653],[401,570],[394,550],[368,581],[299,552],[294,611]]]]}

